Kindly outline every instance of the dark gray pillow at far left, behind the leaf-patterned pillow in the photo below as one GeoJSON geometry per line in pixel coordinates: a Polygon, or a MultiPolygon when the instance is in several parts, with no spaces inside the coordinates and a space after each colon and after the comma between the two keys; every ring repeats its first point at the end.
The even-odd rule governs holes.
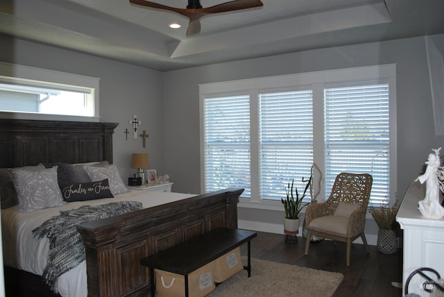
{"type": "MultiPolygon", "coordinates": [[[[38,164],[37,166],[17,167],[14,169],[38,171],[44,169],[44,166],[43,164],[38,164]]],[[[17,199],[17,192],[15,191],[14,183],[12,183],[8,168],[0,169],[0,200],[2,210],[15,206],[19,203],[17,199]]]]}

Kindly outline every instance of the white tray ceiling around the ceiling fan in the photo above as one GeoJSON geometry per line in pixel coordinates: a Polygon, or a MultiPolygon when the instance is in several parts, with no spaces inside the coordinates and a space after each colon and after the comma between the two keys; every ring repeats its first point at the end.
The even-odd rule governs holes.
{"type": "MultiPolygon", "coordinates": [[[[187,0],[155,1],[187,6],[187,0]]],[[[0,33],[160,71],[444,33],[444,0],[262,2],[204,17],[200,34],[187,37],[185,17],[129,0],[1,0],[0,33]],[[182,27],[171,29],[171,22],[182,27]]]]}

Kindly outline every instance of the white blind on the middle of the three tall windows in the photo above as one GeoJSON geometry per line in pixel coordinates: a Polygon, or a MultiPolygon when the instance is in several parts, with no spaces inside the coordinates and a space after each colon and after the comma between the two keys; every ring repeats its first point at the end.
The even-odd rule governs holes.
{"type": "Polygon", "coordinates": [[[261,198],[284,198],[293,178],[303,192],[313,164],[311,90],[260,94],[259,142],[261,198]]]}

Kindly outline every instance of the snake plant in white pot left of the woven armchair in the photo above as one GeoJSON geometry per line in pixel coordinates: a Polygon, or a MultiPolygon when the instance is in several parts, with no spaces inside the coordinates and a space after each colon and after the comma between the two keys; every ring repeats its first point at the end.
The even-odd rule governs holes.
{"type": "Polygon", "coordinates": [[[281,198],[281,202],[284,205],[285,217],[284,217],[284,233],[287,235],[298,234],[299,228],[299,213],[305,206],[309,205],[309,202],[303,203],[302,200],[307,194],[307,189],[311,184],[311,176],[308,180],[302,178],[302,183],[307,183],[305,185],[304,192],[299,195],[298,188],[294,187],[294,178],[289,183],[288,187],[285,189],[287,192],[287,198],[281,198]],[[295,190],[293,194],[293,189],[295,190]]]}

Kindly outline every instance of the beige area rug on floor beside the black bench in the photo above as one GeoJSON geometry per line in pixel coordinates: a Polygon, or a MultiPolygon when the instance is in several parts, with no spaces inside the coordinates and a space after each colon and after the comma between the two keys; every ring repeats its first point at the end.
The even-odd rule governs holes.
{"type": "Polygon", "coordinates": [[[250,278],[247,271],[240,271],[207,297],[332,296],[343,280],[341,273],[253,258],[251,266],[250,278]]]}

